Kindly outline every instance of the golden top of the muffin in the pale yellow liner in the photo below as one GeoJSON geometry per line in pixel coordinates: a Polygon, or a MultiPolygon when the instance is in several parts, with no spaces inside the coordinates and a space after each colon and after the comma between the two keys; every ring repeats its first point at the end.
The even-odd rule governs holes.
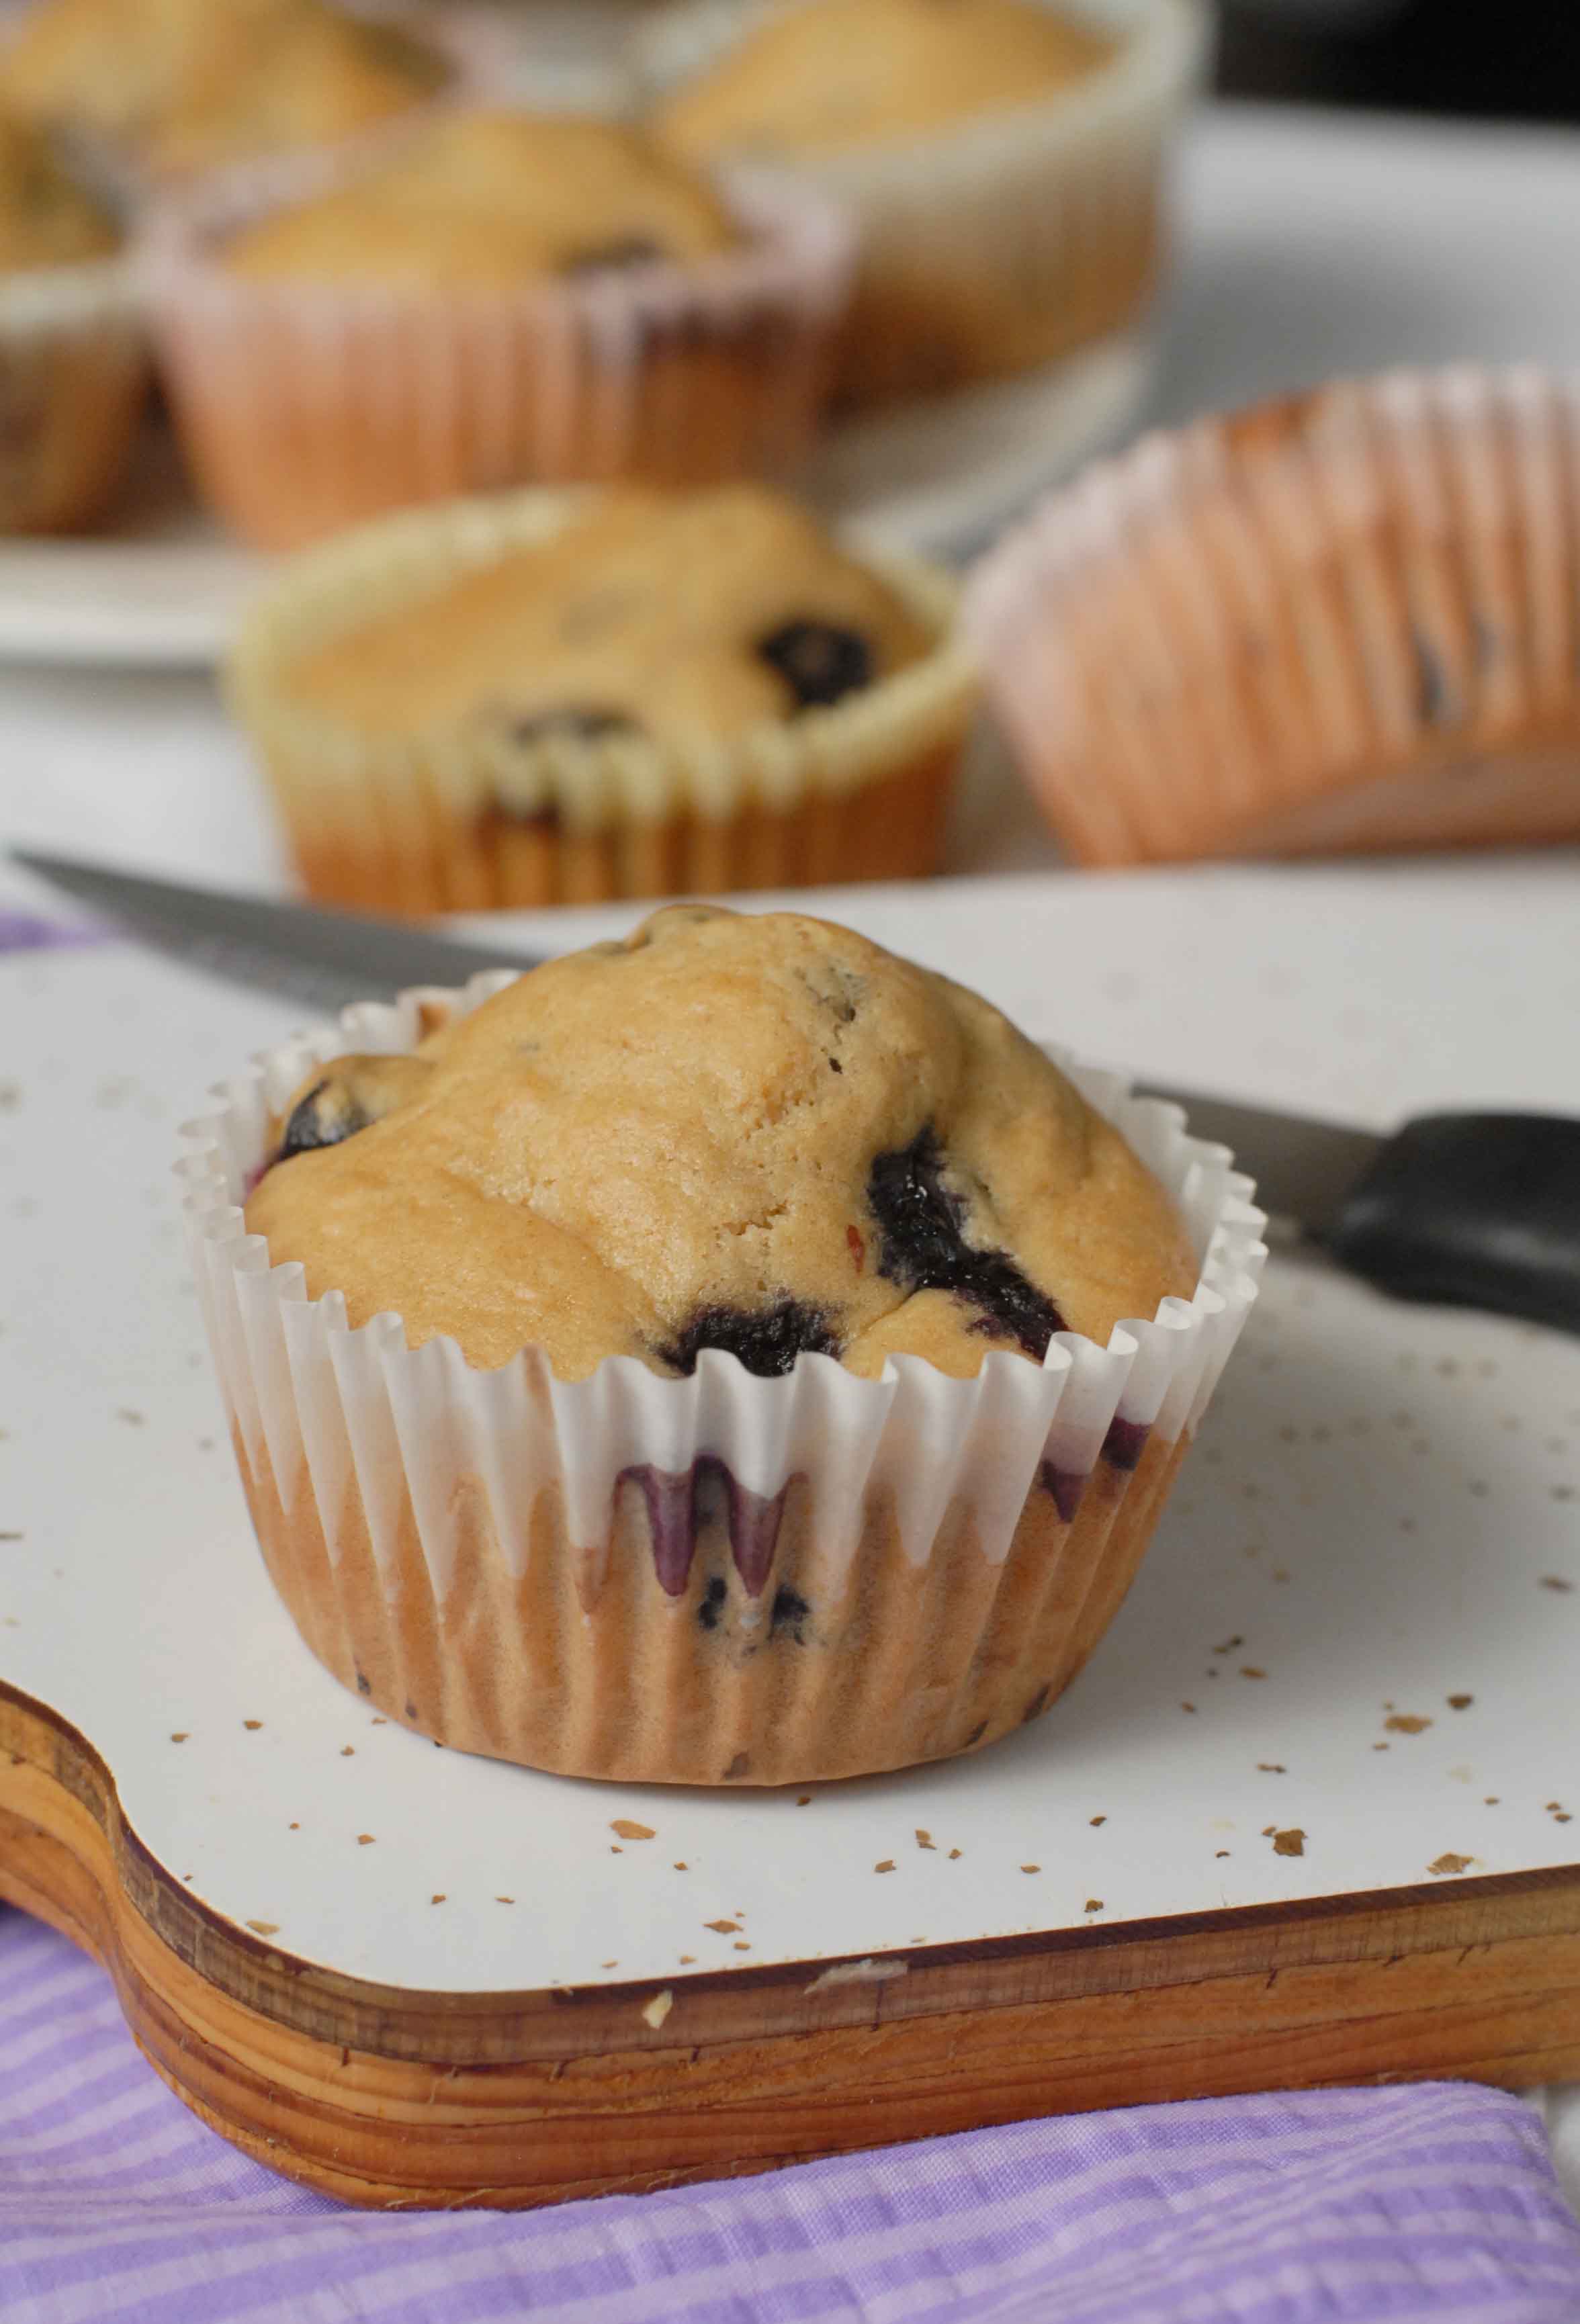
{"type": "Polygon", "coordinates": [[[897,590],[781,493],[623,488],[328,639],[283,690],[365,737],[695,746],[839,702],[932,644],[897,590]]]}

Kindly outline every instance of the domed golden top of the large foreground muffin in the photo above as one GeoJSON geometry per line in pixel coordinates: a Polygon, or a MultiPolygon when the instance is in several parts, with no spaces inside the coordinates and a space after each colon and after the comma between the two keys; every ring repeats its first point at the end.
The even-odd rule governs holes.
{"type": "Polygon", "coordinates": [[[971,1376],[1197,1285],[1125,1139],[974,992],[802,913],[676,904],[290,1099],[246,1225],[421,1346],[971,1376]]]}

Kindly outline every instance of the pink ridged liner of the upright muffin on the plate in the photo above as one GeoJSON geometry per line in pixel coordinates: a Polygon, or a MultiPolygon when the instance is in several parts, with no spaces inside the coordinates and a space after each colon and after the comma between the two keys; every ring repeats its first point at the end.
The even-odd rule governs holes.
{"type": "Polygon", "coordinates": [[[181,439],[246,539],[290,548],[514,483],[778,476],[811,444],[853,267],[853,232],[813,188],[732,172],[744,239],[692,265],[502,288],[225,267],[228,232],[362,167],[358,146],[232,172],[146,225],[181,439]]]}

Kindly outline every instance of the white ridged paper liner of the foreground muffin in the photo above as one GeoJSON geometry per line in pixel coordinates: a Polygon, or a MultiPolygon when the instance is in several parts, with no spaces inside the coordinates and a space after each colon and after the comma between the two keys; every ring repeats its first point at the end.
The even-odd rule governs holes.
{"type": "Polygon", "coordinates": [[[186,1132],[186,1213],[237,1464],[321,1662],[462,1750],[634,1783],[806,1783],[990,1743],[1115,1613],[1255,1299],[1264,1218],[1176,1106],[1073,1067],[1176,1195],[1192,1299],[1106,1348],[974,1380],[820,1355],[755,1378],[541,1350],[474,1371],[397,1315],[349,1329],[239,1208],[270,1120],[323,1060],[407,1050],[509,983],[362,1004],[228,1081],[186,1132]]]}

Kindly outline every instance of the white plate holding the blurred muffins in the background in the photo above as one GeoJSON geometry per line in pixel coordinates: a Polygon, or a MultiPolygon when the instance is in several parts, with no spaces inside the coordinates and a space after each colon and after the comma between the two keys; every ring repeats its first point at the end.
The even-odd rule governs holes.
{"type": "MultiPolygon", "coordinates": [[[[1006,386],[839,428],[802,476],[830,516],[902,548],[964,555],[1032,493],[1118,439],[1141,407],[1139,337],[1006,386]]],[[[267,558],[204,518],[156,437],[116,530],[0,544],[0,658],[193,669],[216,662],[267,558]]]]}

